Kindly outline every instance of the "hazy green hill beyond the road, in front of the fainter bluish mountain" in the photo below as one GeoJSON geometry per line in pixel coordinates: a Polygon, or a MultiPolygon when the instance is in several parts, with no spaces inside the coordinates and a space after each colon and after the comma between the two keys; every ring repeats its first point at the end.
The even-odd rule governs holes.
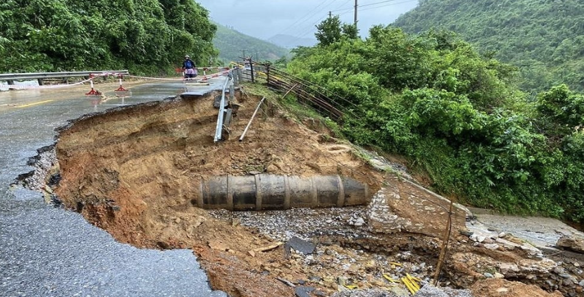
{"type": "Polygon", "coordinates": [[[245,56],[253,55],[254,60],[259,58],[259,61],[276,61],[290,54],[290,51],[284,47],[256,39],[218,23],[215,25],[217,25],[217,32],[213,44],[219,50],[219,58],[225,63],[241,61],[239,57],[243,56],[243,50],[245,50],[245,56]]]}

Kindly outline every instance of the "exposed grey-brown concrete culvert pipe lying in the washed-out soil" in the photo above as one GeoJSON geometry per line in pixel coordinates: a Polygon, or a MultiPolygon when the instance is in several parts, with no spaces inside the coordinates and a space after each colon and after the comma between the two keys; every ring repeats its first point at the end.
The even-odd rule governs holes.
{"type": "Polygon", "coordinates": [[[227,175],[203,180],[200,186],[192,203],[206,209],[343,207],[364,205],[370,199],[366,184],[339,175],[227,175]]]}

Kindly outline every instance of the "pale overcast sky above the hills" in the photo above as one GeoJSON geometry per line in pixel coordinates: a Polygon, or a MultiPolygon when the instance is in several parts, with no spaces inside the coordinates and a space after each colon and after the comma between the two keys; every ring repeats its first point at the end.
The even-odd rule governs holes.
{"type": "MultiPolygon", "coordinates": [[[[276,34],[314,37],[315,25],[328,11],[352,23],[354,0],[196,0],[221,25],[269,39],[276,34]],[[336,10],[336,11],[335,11],[336,10]]],[[[417,0],[359,0],[359,30],[366,35],[372,25],[392,23],[400,14],[416,7],[417,0]],[[380,3],[383,2],[383,3],[380,3]],[[379,3],[379,4],[375,4],[379,3]],[[373,5],[370,5],[373,4],[373,5]]]]}

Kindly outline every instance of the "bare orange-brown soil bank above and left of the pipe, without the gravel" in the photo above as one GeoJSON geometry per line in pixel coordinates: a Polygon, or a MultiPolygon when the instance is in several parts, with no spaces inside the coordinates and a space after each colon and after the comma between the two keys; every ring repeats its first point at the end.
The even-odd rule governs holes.
{"type": "MultiPolygon", "coordinates": [[[[293,296],[274,275],[265,275],[278,269],[282,247],[251,256],[249,251],[274,241],[195,208],[199,181],[264,172],[339,174],[375,192],[383,177],[355,157],[350,146],[333,140],[324,125],[309,120],[313,129],[308,129],[271,102],[245,141],[238,142],[260,100],[240,92],[236,99],[243,107],[230,126],[233,135],[214,144],[216,96],[114,109],[71,123],[60,131],[56,145],[61,177],[56,195],[118,241],[142,248],[191,248],[214,289],[232,296],[293,296]]],[[[308,278],[299,269],[287,276],[308,278]]]]}

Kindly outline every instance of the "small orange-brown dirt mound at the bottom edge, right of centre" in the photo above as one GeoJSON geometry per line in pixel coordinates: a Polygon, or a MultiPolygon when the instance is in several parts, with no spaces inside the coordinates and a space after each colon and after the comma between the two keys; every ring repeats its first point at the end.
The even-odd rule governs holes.
{"type": "Polygon", "coordinates": [[[475,297],[562,297],[559,292],[548,293],[535,285],[498,278],[478,281],[471,287],[471,292],[475,297]]]}

